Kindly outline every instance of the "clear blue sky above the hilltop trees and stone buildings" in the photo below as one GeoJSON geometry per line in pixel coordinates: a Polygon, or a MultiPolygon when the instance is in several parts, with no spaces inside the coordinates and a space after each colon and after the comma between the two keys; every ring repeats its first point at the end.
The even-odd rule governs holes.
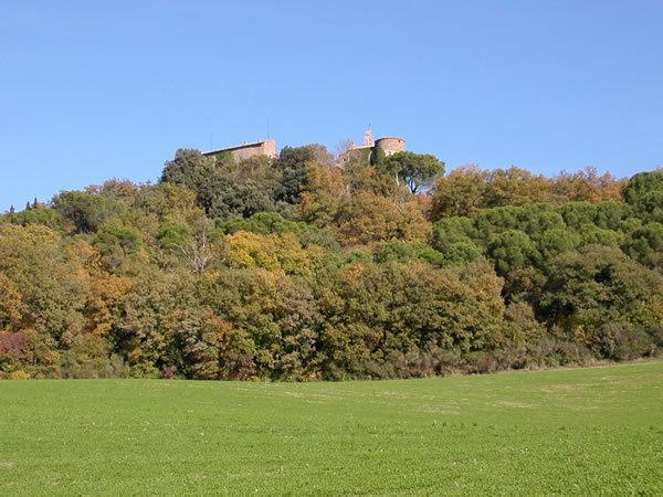
{"type": "Polygon", "coordinates": [[[448,168],[663,165],[663,2],[0,6],[0,210],[177,148],[399,135],[448,168]]]}

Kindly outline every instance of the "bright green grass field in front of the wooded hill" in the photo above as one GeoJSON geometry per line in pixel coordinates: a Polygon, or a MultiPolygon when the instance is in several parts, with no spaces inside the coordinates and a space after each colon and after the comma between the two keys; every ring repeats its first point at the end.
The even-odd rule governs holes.
{"type": "Polygon", "coordinates": [[[663,362],[0,382],[0,494],[661,494],[663,362]]]}

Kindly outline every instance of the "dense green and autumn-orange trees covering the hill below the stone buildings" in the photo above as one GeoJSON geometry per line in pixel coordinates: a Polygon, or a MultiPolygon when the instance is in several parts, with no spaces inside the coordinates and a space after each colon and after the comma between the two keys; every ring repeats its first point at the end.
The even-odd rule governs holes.
{"type": "Polygon", "coordinates": [[[663,172],[179,150],[0,218],[0,377],[316,380],[663,349],[663,172]]]}

